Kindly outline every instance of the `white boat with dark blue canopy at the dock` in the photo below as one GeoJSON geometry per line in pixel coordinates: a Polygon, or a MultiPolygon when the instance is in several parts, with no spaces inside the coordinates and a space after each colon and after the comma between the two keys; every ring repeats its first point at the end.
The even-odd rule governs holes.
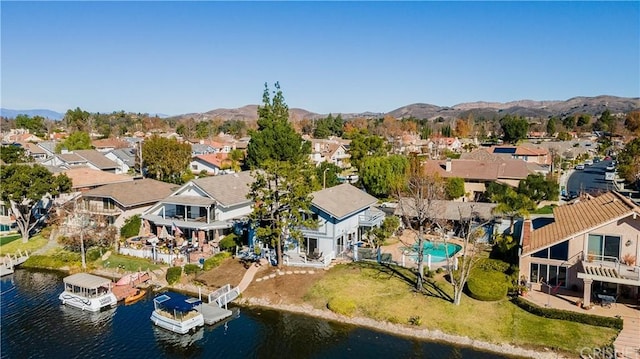
{"type": "Polygon", "coordinates": [[[153,324],[178,334],[186,334],[204,326],[204,316],[198,311],[202,301],[182,294],[167,292],[153,299],[153,324]]]}

